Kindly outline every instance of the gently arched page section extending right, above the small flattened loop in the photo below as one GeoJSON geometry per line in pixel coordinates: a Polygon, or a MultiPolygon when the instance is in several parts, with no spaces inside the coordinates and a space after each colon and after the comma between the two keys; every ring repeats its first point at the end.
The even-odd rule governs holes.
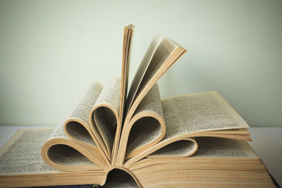
{"type": "MultiPolygon", "coordinates": [[[[162,106],[166,122],[165,137],[158,144],[128,159],[125,166],[180,139],[225,137],[246,140],[250,138],[244,130],[245,127],[249,127],[247,123],[217,92],[173,96],[164,99],[162,106]]],[[[196,143],[195,148],[197,148],[196,143]]],[[[194,151],[191,153],[195,153],[194,151]]]]}

